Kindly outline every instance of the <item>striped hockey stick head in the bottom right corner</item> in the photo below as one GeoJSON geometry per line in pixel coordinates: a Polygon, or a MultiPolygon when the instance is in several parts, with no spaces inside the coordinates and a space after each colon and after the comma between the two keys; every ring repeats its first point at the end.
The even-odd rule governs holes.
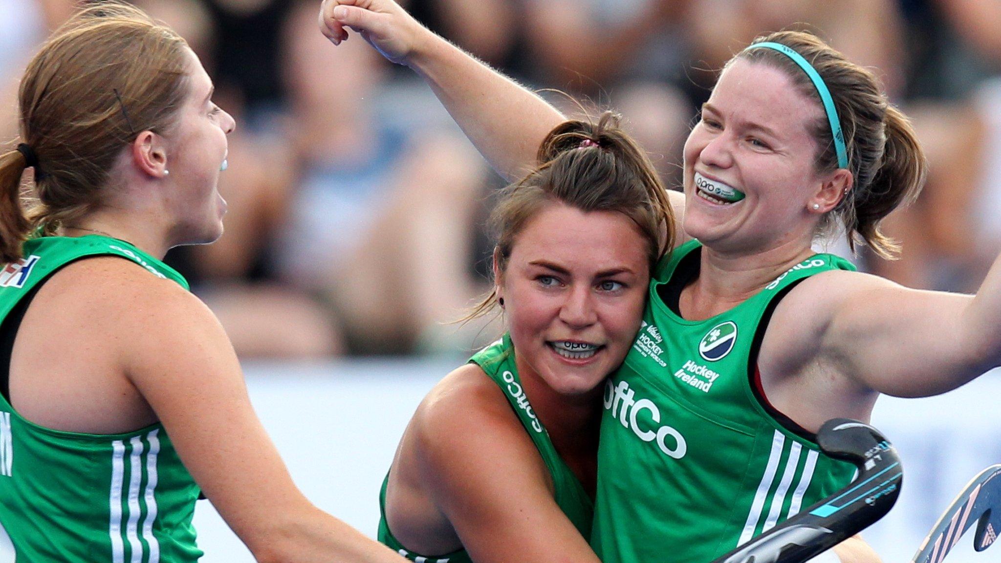
{"type": "Polygon", "coordinates": [[[973,549],[983,551],[1001,532],[1001,465],[988,467],[966,485],[935,523],[911,563],[940,563],[974,523],[973,549]]]}

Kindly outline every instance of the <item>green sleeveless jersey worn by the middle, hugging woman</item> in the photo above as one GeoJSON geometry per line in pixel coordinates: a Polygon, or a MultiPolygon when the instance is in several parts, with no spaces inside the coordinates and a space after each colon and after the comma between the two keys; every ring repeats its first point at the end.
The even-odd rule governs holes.
{"type": "MultiPolygon", "coordinates": [[[[515,414],[522,421],[525,431],[532,437],[536,448],[539,449],[539,455],[543,457],[546,467],[550,470],[557,505],[577,527],[581,535],[585,538],[590,537],[594,504],[577,476],[557,453],[550,440],[549,432],[546,431],[532,410],[529,398],[526,397],[525,391],[522,389],[522,379],[515,365],[515,347],[511,343],[511,336],[505,335],[499,341],[475,354],[469,362],[479,366],[486,376],[504,391],[505,397],[508,398],[508,402],[511,403],[515,414]]],[[[385,522],[385,486],[388,480],[389,476],[386,475],[379,494],[379,510],[382,516],[378,523],[378,541],[417,563],[471,563],[469,555],[462,549],[445,555],[427,557],[407,550],[396,541],[385,522]]]]}

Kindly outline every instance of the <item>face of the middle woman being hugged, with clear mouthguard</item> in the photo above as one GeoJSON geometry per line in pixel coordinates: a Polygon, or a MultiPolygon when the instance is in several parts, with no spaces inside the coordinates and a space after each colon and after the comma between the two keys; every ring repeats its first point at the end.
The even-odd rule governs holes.
{"type": "Polygon", "coordinates": [[[497,287],[520,369],[568,395],[601,384],[640,329],[647,251],[647,239],[620,212],[554,203],[531,219],[497,287]]]}

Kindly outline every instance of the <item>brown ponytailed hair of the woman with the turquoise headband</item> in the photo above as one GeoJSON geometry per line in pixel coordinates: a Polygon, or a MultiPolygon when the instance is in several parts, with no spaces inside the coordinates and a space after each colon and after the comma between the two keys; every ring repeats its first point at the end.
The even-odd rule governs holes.
{"type": "MultiPolygon", "coordinates": [[[[840,222],[853,250],[856,244],[866,244],[884,258],[894,257],[900,246],[883,234],[880,222],[901,203],[918,196],[928,169],[910,122],[889,102],[870,70],[849,61],[817,36],[802,31],[780,31],[758,37],[752,44],[766,41],[786,45],[810,61],[830,90],[841,119],[854,185],[824,217],[818,234],[830,234],[840,222]]],[[[751,49],[731,61],[739,58],[785,71],[801,92],[816,99],[818,105],[822,103],[807,74],[785,54],[772,49],[751,49]]],[[[831,126],[821,113],[811,127],[821,147],[815,166],[822,171],[834,170],[838,159],[831,126]]]]}

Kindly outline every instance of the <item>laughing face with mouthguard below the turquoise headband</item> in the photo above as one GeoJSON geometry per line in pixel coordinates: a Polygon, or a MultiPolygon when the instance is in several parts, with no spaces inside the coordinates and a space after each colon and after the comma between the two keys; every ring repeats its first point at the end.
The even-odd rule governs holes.
{"type": "Polygon", "coordinates": [[[823,115],[784,71],[743,59],[728,66],[685,143],[686,232],[720,250],[809,241],[807,201],[822,181],[810,127],[823,115]],[[707,182],[745,197],[714,200],[700,188],[707,182]]]}

